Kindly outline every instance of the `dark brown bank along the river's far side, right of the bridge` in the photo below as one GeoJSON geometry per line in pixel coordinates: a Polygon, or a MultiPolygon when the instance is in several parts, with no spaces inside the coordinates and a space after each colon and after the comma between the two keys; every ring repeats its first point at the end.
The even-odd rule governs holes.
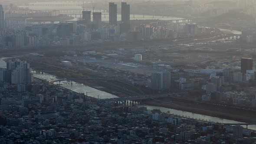
{"type": "Polygon", "coordinates": [[[144,105],[153,105],[175,110],[188,111],[201,115],[208,115],[218,118],[225,118],[234,121],[251,123],[256,121],[254,111],[243,111],[240,109],[217,107],[201,103],[177,100],[173,98],[164,98],[155,101],[144,101],[144,105]]]}

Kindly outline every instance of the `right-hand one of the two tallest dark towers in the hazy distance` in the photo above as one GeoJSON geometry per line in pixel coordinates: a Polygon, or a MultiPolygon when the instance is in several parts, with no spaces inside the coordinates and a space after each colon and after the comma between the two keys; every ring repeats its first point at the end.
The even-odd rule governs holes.
{"type": "Polygon", "coordinates": [[[130,5],[122,2],[121,3],[121,33],[127,33],[130,29],[130,5]]]}

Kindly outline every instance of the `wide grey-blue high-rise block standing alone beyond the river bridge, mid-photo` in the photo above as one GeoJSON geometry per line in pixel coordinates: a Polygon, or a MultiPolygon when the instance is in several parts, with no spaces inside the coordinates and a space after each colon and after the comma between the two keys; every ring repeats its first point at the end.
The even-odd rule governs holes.
{"type": "Polygon", "coordinates": [[[154,90],[168,90],[171,87],[170,72],[154,72],[151,75],[151,86],[154,90]]]}

